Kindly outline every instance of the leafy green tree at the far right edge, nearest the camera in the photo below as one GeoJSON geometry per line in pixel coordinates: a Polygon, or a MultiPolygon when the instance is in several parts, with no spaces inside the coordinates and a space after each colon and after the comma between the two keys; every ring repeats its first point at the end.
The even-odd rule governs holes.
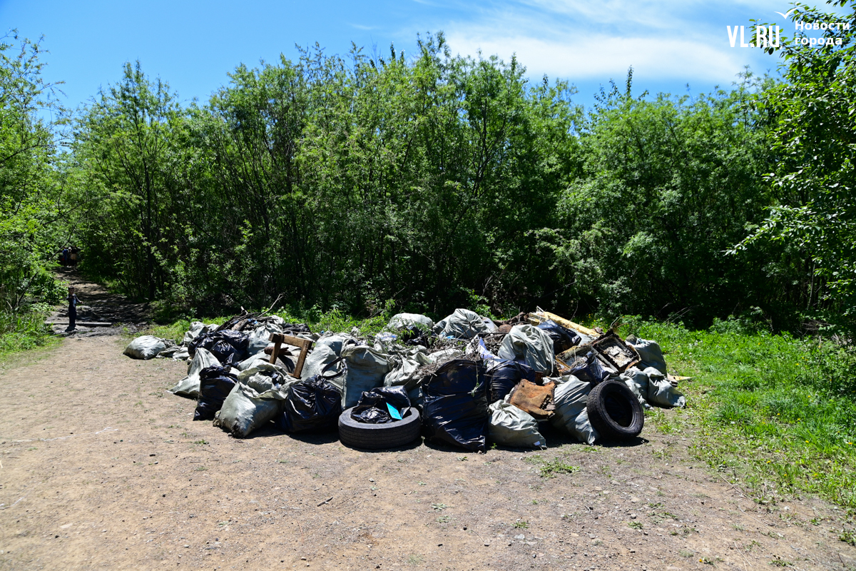
{"type": "Polygon", "coordinates": [[[809,260],[804,311],[853,327],[856,312],[856,2],[837,0],[850,14],[827,14],[798,4],[792,19],[827,28],[783,39],[783,81],[766,95],[777,122],[770,144],[780,159],[767,175],[776,201],[768,216],[735,248],[765,242],[800,251],[809,260]],[[842,26],[846,24],[847,28],[842,26]]]}

